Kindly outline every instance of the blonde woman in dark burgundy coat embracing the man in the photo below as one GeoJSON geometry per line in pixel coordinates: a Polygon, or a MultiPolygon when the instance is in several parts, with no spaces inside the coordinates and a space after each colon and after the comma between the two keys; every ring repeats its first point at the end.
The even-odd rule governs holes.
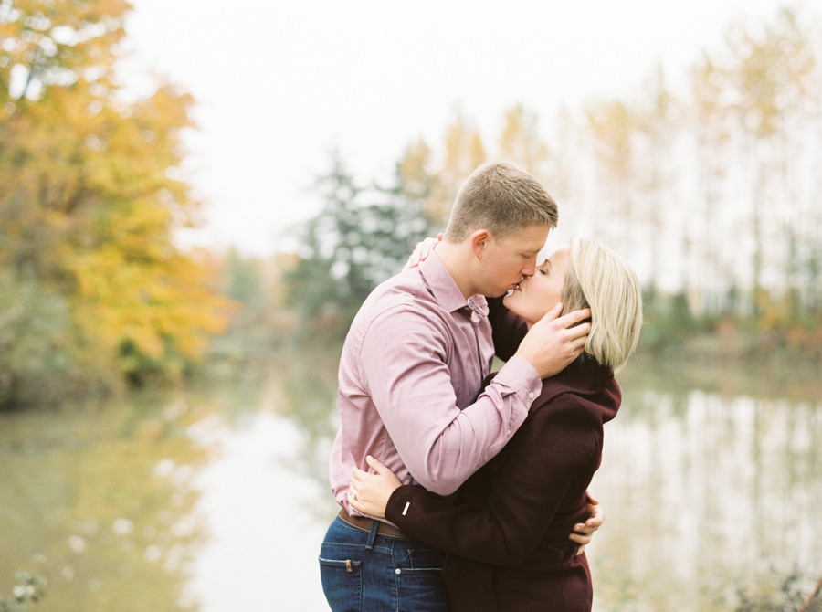
{"type": "MultiPolygon", "coordinates": [[[[443,578],[451,612],[591,609],[591,575],[567,533],[584,520],[585,491],[602,458],[603,425],[621,393],[616,372],[638,343],[642,300],[636,274],[607,248],[574,238],[555,252],[490,316],[519,317],[514,337],[495,338],[498,354],[516,351],[533,323],[562,301],[591,309],[585,353],[543,380],[543,392],[501,453],[449,501],[401,486],[369,458],[376,474],[354,470],[349,500],[404,533],[448,553],[443,578]]],[[[495,327],[497,327],[495,325],[495,327]]]]}

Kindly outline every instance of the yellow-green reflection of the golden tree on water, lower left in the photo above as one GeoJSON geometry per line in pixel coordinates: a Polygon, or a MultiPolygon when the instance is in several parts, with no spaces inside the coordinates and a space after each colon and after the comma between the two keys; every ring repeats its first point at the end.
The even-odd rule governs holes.
{"type": "Polygon", "coordinates": [[[47,576],[47,610],[191,607],[183,586],[202,536],[191,478],[206,458],[169,400],[2,416],[5,595],[25,569],[47,576]]]}

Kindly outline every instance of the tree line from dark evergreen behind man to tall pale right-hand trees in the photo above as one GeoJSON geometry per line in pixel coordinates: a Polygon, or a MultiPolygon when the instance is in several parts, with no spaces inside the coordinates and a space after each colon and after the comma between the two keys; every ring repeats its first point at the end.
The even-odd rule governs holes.
{"type": "Polygon", "coordinates": [[[313,322],[330,313],[350,322],[419,232],[445,227],[468,174],[509,159],[559,203],[556,234],[602,241],[638,269],[651,343],[732,322],[822,354],[817,16],[783,9],[769,23],[734,24],[676,82],[654,69],[629,99],[561,109],[548,135],[535,111],[514,105],[492,148],[457,112],[439,146],[419,140],[402,154],[378,198],[383,234],[366,220],[374,193],[335,158],[319,185],[326,206],[303,227],[292,300],[313,322]]]}

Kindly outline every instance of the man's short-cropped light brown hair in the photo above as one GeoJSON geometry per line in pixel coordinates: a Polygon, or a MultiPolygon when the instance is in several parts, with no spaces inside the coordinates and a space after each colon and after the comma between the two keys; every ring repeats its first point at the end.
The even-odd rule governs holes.
{"type": "Polygon", "coordinates": [[[499,240],[524,227],[556,227],[558,218],[553,197],[531,174],[511,162],[489,162],[459,188],[445,239],[456,244],[486,229],[499,240]]]}

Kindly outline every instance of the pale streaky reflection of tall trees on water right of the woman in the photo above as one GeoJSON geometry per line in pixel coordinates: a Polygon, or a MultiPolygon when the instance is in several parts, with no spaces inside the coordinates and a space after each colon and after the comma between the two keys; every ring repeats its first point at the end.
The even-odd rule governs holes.
{"type": "Polygon", "coordinates": [[[733,610],[822,574],[822,406],[693,391],[629,396],[594,482],[592,546],[608,610],[733,610]]]}

